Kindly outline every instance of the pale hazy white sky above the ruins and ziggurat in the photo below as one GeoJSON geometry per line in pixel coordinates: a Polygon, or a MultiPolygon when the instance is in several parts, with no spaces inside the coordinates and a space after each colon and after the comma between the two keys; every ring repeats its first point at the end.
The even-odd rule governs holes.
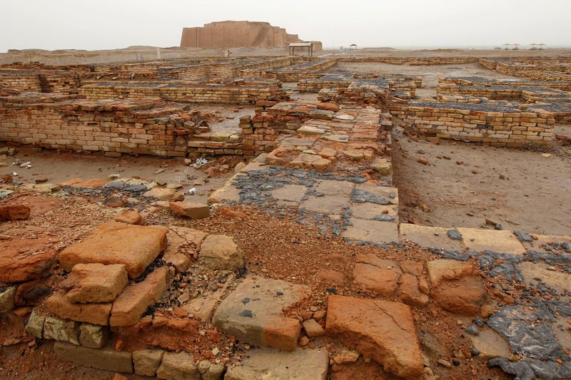
{"type": "Polygon", "coordinates": [[[571,46],[570,0],[0,0],[9,48],[178,46],[183,27],[268,21],[324,46],[571,46]]]}

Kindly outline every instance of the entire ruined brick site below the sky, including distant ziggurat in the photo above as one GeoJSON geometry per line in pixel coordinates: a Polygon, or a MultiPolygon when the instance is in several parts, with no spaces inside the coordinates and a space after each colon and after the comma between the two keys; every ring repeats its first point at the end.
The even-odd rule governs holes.
{"type": "Polygon", "coordinates": [[[570,178],[570,50],[0,54],[0,378],[571,379],[570,178]]]}

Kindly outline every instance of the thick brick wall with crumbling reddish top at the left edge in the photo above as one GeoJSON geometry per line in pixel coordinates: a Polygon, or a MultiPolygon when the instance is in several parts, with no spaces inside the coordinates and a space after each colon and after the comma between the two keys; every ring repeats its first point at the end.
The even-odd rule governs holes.
{"type": "Polygon", "coordinates": [[[0,100],[0,140],[107,155],[186,155],[186,106],[152,101],[0,100]]]}

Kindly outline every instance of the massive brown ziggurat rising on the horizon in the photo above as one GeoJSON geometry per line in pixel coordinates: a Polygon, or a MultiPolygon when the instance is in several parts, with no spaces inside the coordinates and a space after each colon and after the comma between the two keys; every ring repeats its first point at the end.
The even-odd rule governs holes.
{"type": "MultiPolygon", "coordinates": [[[[182,48],[271,48],[303,42],[297,34],[258,21],[216,21],[204,26],[183,28],[182,48]]],[[[313,50],[321,50],[315,43],[313,50]]]]}

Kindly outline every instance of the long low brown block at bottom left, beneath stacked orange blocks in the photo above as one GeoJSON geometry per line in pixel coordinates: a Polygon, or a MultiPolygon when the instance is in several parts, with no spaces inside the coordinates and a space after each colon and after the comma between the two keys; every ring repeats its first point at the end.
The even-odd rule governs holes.
{"type": "Polygon", "coordinates": [[[56,342],[54,352],[59,359],[81,366],[126,374],[133,373],[133,357],[128,352],[113,349],[89,349],[64,342],[56,342]]]}

